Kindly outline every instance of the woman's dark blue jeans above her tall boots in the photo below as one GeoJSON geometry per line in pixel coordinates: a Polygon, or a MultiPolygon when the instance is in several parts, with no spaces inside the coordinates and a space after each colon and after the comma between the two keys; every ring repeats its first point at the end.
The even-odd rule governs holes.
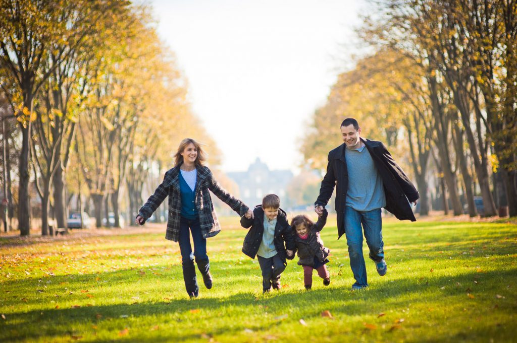
{"type": "Polygon", "coordinates": [[[179,222],[178,243],[183,265],[193,265],[194,257],[196,262],[199,260],[208,260],[208,255],[206,254],[206,239],[203,238],[203,234],[201,233],[199,218],[187,219],[181,217],[179,222]],[[190,245],[189,228],[192,233],[192,240],[194,241],[194,252],[192,252],[192,246],[190,245]]]}

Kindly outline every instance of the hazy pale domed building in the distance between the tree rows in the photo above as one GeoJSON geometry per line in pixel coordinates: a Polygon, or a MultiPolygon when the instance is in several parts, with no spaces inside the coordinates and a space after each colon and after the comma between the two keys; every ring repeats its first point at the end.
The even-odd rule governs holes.
{"type": "Polygon", "coordinates": [[[261,204],[264,195],[270,193],[277,194],[282,204],[287,203],[286,189],[293,179],[290,170],[269,170],[257,157],[247,172],[230,172],[226,175],[239,186],[240,198],[248,206],[261,204]]]}

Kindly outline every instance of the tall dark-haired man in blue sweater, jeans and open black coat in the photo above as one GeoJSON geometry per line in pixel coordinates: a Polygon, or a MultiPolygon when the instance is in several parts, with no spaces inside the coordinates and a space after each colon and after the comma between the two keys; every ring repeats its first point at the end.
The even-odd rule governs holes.
{"type": "Polygon", "coordinates": [[[327,174],[314,209],[318,215],[323,213],[336,186],[338,239],[345,234],[350,267],[356,280],[352,290],[357,290],[368,287],[362,231],[370,258],[383,276],[388,267],[384,260],[381,208],[400,220],[416,221],[409,202],[416,206],[420,196],[382,142],[360,137],[357,120],[345,119],[341,123],[341,135],[344,143],[328,154],[327,174]]]}

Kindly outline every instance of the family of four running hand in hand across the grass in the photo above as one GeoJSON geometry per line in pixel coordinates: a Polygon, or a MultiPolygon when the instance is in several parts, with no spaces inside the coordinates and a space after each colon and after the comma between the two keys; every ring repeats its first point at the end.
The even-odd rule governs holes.
{"type": "Polygon", "coordinates": [[[330,251],[324,247],[320,232],[328,215],[325,205],[336,188],[338,239],[345,234],[356,280],[352,289],[367,287],[363,234],[377,272],[381,276],[386,274],[381,208],[386,208],[398,219],[415,221],[410,203],[416,205],[419,194],[386,146],[382,142],[363,139],[360,134],[361,128],[355,119],[347,118],[341,123],[344,143],[328,155],[327,173],[314,204],[318,216],[315,223],[305,215],[295,216],[288,223],[275,194],[266,195],[261,205],[250,209],[217,183],[210,169],[203,165],[205,156],[201,145],[190,138],[179,144],[174,155],[174,168],[165,173],[163,182],[140,208],[135,221],[143,225],[169,196],[165,238],[179,243],[185,288],[189,297],[197,297],[199,286],[195,264],[205,287],[210,289],[212,277],[206,240],[221,231],[210,198],[211,191],[239,214],[242,227],[249,228],[242,252],[251,258],[256,256],[262,271],[263,292],[281,287],[280,276],[287,266],[286,260],[295,255],[299,257],[298,265],[303,268],[304,286],[311,289],[314,269],[325,286],[330,284],[326,267],[330,251]]]}

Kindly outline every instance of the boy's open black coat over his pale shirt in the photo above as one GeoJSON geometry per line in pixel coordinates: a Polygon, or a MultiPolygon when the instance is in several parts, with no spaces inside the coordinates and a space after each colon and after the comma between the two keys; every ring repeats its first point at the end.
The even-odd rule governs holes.
{"type": "MultiPolygon", "coordinates": [[[[258,248],[262,242],[262,235],[264,234],[264,210],[262,209],[262,205],[257,205],[253,209],[254,218],[246,218],[242,217],[240,219],[240,225],[242,227],[248,228],[251,226],[248,234],[244,238],[244,243],[242,244],[242,252],[251,258],[255,258],[258,248]]],[[[287,254],[285,253],[285,249],[295,250],[294,237],[291,233],[291,226],[287,223],[287,215],[283,209],[279,209],[277,216],[277,225],[275,225],[275,236],[273,238],[273,244],[275,244],[275,249],[277,250],[278,255],[282,258],[284,264],[286,264],[285,258],[287,254]],[[284,247],[285,241],[285,247],[284,247]]],[[[287,257],[289,259],[293,259],[292,257],[287,257]]]]}

